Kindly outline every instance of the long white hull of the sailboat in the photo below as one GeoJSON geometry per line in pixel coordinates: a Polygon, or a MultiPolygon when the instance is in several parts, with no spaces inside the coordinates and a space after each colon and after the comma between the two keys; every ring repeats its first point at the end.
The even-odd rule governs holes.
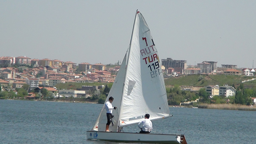
{"type": "Polygon", "coordinates": [[[109,142],[187,144],[184,135],[124,133],[105,131],[87,131],[86,135],[87,139],[89,140],[104,140],[109,142]]]}

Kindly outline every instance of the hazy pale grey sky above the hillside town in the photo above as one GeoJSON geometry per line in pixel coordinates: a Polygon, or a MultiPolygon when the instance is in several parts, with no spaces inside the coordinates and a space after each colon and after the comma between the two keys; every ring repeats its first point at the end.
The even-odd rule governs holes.
{"type": "Polygon", "coordinates": [[[256,63],[256,0],[0,0],[0,56],[114,64],[137,9],[160,59],[256,63]]]}

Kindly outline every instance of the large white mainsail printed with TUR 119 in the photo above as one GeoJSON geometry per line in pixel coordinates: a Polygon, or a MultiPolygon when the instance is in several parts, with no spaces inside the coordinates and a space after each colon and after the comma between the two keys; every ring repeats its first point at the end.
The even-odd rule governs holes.
{"type": "Polygon", "coordinates": [[[160,60],[150,29],[138,11],[132,32],[119,127],[170,116],[160,60]]]}

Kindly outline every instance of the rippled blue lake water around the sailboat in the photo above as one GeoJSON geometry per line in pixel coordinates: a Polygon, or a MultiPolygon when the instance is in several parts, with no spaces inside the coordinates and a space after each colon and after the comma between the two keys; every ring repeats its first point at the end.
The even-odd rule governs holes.
{"type": "MultiPolygon", "coordinates": [[[[0,143],[110,144],[90,141],[102,104],[0,100],[0,143]]],[[[152,133],[183,133],[188,144],[256,144],[256,112],[170,107],[152,133]]],[[[125,132],[139,132],[135,126],[125,132]]]]}

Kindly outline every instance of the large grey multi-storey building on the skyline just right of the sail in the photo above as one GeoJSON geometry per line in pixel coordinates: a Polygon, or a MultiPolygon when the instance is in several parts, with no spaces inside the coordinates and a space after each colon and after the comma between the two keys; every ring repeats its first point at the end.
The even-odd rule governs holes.
{"type": "Polygon", "coordinates": [[[174,68],[175,71],[183,73],[184,69],[187,69],[187,60],[162,59],[162,65],[165,69],[174,68]]]}

